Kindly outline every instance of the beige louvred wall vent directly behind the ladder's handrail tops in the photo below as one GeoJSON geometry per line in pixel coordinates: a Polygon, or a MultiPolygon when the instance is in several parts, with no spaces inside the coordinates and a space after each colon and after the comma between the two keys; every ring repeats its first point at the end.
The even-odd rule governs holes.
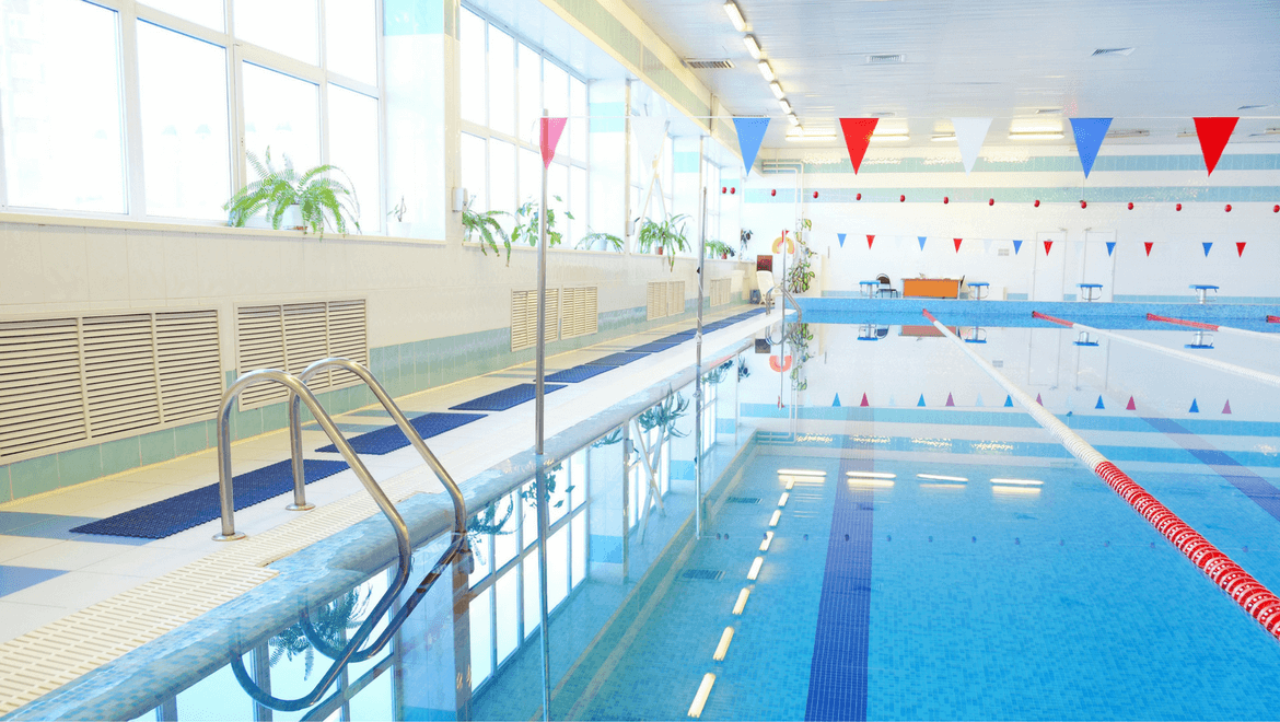
{"type": "MultiPolygon", "coordinates": [[[[312,301],[271,306],[241,306],[236,314],[236,367],[241,374],[257,369],[301,373],[329,356],[369,366],[369,325],[364,300],[312,301]]],[[[311,379],[311,390],[356,383],[348,371],[326,371],[311,379]]],[[[257,384],[239,396],[239,408],[260,408],[288,399],[275,384],[257,384]]]]}

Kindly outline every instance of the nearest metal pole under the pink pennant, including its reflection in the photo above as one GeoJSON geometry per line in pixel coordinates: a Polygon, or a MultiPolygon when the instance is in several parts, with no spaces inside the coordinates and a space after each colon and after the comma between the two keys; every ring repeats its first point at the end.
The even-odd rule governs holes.
{"type": "MultiPolygon", "coordinates": [[[[543,147],[550,142],[548,133],[547,110],[543,110],[543,120],[539,125],[543,147]]],[[[543,161],[543,206],[538,214],[538,351],[534,369],[534,394],[535,411],[534,425],[538,437],[534,444],[535,461],[538,463],[538,591],[541,600],[541,648],[543,648],[543,719],[552,718],[552,650],[550,635],[548,634],[547,609],[547,527],[549,525],[549,511],[547,508],[547,469],[543,460],[543,442],[545,440],[544,426],[544,374],[547,371],[547,168],[543,161]]]]}

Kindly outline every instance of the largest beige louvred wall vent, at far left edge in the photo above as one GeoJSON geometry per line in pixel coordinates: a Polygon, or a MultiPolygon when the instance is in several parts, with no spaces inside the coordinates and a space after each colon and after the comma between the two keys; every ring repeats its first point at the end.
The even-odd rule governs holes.
{"type": "Polygon", "coordinates": [[[223,393],[218,311],[0,323],[0,458],[210,419],[223,393]]]}

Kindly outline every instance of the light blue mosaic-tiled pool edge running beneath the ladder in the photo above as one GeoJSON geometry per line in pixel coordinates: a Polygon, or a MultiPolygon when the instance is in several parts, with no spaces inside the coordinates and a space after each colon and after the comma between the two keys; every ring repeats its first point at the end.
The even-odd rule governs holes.
{"type": "MultiPolygon", "coordinates": [[[[762,320],[750,330],[754,335],[762,320]]],[[[703,366],[712,369],[751,348],[748,337],[710,355],[703,366]],[[726,351],[730,349],[730,351],[726,351]]],[[[694,366],[662,379],[620,403],[589,416],[556,434],[545,443],[544,463],[552,467],[577,449],[660,402],[675,389],[695,379],[694,366]]],[[[495,463],[461,484],[468,509],[480,509],[534,477],[534,448],[495,463]]],[[[429,540],[453,527],[453,506],[445,494],[416,494],[397,507],[419,550],[429,540]]],[[[370,517],[326,539],[268,565],[278,572],[250,591],[201,614],[29,702],[0,719],[131,719],[159,707],[228,662],[228,649],[247,652],[298,620],[303,607],[324,604],[397,558],[394,536],[381,517],[370,517]],[[163,663],[160,663],[163,661],[163,663]],[[156,667],[163,667],[157,670],[156,667]],[[164,691],[157,691],[164,690],[164,691]]]]}

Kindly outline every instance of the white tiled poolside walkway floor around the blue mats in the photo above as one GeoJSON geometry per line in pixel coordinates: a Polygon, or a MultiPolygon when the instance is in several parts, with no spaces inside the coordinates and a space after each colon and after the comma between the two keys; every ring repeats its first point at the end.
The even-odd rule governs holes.
{"type": "MultiPolygon", "coordinates": [[[[736,307],[733,312],[741,310],[741,307],[736,307]]],[[[777,317],[777,315],[769,319],[754,316],[730,329],[708,334],[704,339],[704,352],[710,356],[721,349],[730,351],[732,344],[751,335],[767,321],[776,321],[777,317]]],[[[549,358],[548,374],[614,351],[646,343],[689,325],[689,321],[684,321],[678,326],[673,325],[613,339],[593,348],[549,358]]],[[[547,397],[547,435],[552,437],[580,422],[586,416],[625,399],[636,390],[678,373],[690,366],[692,361],[694,344],[685,343],[671,351],[613,369],[588,381],[568,384],[564,389],[547,397]]],[[[531,379],[532,364],[399,398],[397,403],[410,416],[426,411],[447,411],[449,406],[520,383],[520,378],[515,378],[516,375],[531,379]]],[[[389,422],[384,417],[360,413],[342,415],[335,417],[335,421],[376,426],[389,422]]],[[[467,479],[529,449],[534,440],[532,429],[534,405],[524,403],[504,412],[489,412],[485,419],[442,434],[431,439],[429,444],[451,474],[465,486],[467,479]]],[[[310,458],[342,458],[339,454],[315,453],[314,449],[328,443],[329,440],[323,431],[303,431],[303,448],[307,449],[310,458]]],[[[288,434],[284,430],[238,442],[233,444],[232,449],[236,472],[264,466],[264,462],[282,461],[288,456],[288,434]]],[[[384,456],[365,456],[361,457],[361,461],[379,481],[422,466],[421,458],[412,447],[384,456]]],[[[0,504],[0,511],[106,517],[216,481],[215,451],[207,449],[42,497],[0,504]]],[[[424,490],[440,493],[443,486],[433,479],[426,483],[424,490]]],[[[351,470],[307,485],[307,501],[317,506],[362,493],[361,485],[351,470]]],[[[256,534],[296,518],[300,512],[284,509],[284,504],[288,502],[288,495],[282,495],[237,512],[237,529],[247,534],[256,534]]],[[[218,531],[218,521],[211,521],[166,539],[140,545],[97,543],[84,540],[83,536],[59,540],[0,535],[0,563],[67,572],[0,598],[0,620],[3,620],[0,641],[20,636],[90,604],[125,591],[148,579],[223,549],[224,544],[211,540],[212,534],[218,531]]]]}

